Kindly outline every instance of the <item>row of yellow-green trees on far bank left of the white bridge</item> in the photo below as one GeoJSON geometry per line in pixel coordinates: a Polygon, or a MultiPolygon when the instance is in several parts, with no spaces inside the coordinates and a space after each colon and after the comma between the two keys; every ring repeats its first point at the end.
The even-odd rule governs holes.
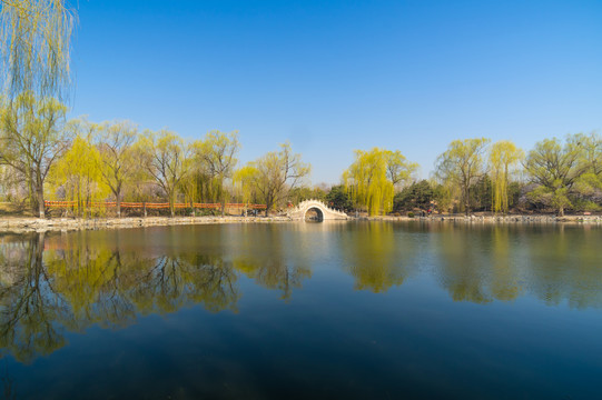
{"type": "MultiPolygon", "coordinates": [[[[45,200],[72,201],[71,212],[107,212],[103,201],[175,204],[266,204],[266,214],[302,184],[309,166],[284,143],[238,168],[237,132],[210,131],[186,142],[162,129],[140,131],[129,121],[66,120],[66,107],[30,92],[0,110],[1,184],[7,200],[28,201],[45,217],[45,200]]],[[[182,211],[184,212],[184,211],[182,211]]]]}

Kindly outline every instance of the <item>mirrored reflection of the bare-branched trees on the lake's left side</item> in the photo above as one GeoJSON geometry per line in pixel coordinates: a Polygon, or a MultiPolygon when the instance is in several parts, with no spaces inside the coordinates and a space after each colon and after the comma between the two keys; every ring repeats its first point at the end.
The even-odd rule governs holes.
{"type": "Polygon", "coordinates": [[[62,347],[65,330],[124,327],[137,313],[196,303],[235,310],[239,299],[231,263],[217,256],[145,256],[86,232],[46,248],[43,234],[0,244],[0,346],[19,360],[62,347]]]}

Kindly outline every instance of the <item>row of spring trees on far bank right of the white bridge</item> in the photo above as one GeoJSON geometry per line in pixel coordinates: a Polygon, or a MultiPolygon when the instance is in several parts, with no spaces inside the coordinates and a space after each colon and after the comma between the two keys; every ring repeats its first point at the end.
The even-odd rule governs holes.
{"type": "Polygon", "coordinates": [[[398,152],[357,151],[343,176],[351,194],[344,207],[371,214],[432,209],[563,216],[602,204],[602,138],[595,132],[544,139],[526,154],[511,141],[455,140],[430,180],[417,181],[415,170],[398,152]]]}

